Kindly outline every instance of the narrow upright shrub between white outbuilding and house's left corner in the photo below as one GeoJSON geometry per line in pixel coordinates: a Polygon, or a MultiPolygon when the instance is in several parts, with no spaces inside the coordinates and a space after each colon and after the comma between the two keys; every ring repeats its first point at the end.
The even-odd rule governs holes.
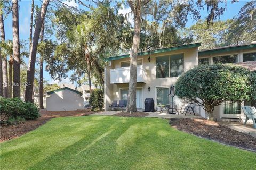
{"type": "Polygon", "coordinates": [[[101,111],[103,107],[103,91],[100,89],[94,89],[90,96],[89,100],[90,105],[92,106],[92,111],[101,111]]]}

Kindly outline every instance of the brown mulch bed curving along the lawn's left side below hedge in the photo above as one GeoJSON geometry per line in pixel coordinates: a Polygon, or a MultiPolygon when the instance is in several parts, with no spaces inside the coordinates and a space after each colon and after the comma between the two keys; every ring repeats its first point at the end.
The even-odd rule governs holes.
{"type": "Polygon", "coordinates": [[[17,138],[29,131],[32,131],[39,126],[42,126],[51,118],[66,117],[66,116],[87,116],[95,112],[90,110],[77,110],[77,111],[45,111],[41,110],[37,120],[24,121],[15,125],[1,125],[0,126],[0,142],[17,138]]]}

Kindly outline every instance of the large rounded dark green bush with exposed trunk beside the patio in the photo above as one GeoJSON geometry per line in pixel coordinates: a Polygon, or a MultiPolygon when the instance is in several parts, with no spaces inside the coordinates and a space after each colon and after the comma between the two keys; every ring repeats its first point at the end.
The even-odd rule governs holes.
{"type": "Polygon", "coordinates": [[[223,101],[255,97],[255,80],[255,73],[241,66],[201,65],[183,73],[175,83],[175,89],[179,98],[202,106],[213,120],[214,107],[223,101]]]}

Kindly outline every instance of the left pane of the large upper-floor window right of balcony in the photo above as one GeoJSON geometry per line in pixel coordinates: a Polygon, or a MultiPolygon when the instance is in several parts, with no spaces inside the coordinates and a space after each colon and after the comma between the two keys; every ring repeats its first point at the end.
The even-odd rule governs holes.
{"type": "Polygon", "coordinates": [[[169,56],[156,57],[156,78],[169,77],[169,56]]]}

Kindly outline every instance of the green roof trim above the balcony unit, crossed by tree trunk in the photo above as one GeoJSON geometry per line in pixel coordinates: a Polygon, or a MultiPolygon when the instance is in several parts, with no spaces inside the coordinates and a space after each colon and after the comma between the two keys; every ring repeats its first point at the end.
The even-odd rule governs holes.
{"type": "MultiPolygon", "coordinates": [[[[140,52],[140,53],[138,53],[138,56],[171,52],[174,50],[195,48],[195,47],[199,47],[199,46],[201,46],[201,43],[187,44],[187,45],[175,46],[175,47],[169,47],[169,48],[161,48],[161,49],[155,49],[155,50],[153,50],[153,52],[151,52],[151,51],[140,52]]],[[[119,59],[128,58],[128,57],[130,57],[130,54],[108,57],[105,60],[106,61],[119,60],[119,59]]]]}

